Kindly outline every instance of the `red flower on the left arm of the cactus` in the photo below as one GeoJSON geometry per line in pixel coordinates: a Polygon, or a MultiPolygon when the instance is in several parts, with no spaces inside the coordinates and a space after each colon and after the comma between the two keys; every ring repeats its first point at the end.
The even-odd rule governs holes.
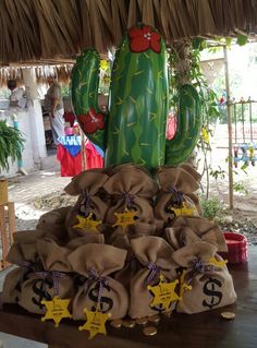
{"type": "Polygon", "coordinates": [[[102,113],[96,113],[94,108],[90,108],[86,115],[79,115],[77,119],[82,129],[87,134],[93,134],[97,130],[102,130],[105,128],[105,116],[102,113]]]}

